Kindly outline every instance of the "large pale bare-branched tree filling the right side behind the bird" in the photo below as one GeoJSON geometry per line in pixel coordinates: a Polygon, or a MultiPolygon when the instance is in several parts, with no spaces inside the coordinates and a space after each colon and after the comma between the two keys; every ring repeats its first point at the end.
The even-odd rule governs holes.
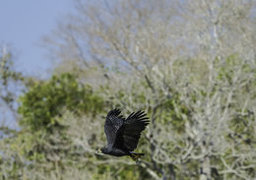
{"type": "Polygon", "coordinates": [[[79,16],[46,41],[59,42],[50,46],[56,58],[80,64],[82,81],[96,67],[94,83],[106,85],[112,104],[148,110],[150,157],[140,166],[153,179],[251,179],[254,8],[252,1],[77,1],[79,16]]]}

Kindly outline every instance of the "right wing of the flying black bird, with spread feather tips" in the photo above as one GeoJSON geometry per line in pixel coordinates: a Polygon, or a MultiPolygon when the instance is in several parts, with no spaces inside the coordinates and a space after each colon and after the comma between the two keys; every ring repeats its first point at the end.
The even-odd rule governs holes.
{"type": "Polygon", "coordinates": [[[141,133],[150,123],[144,111],[133,112],[124,121],[123,126],[119,129],[115,147],[122,147],[129,151],[137,148],[141,133]]]}

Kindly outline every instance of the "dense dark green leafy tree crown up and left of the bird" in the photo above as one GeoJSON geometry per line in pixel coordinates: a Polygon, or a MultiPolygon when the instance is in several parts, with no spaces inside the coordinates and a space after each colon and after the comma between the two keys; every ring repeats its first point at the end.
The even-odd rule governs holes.
{"type": "Polygon", "coordinates": [[[53,76],[47,82],[40,82],[20,98],[18,112],[23,116],[20,125],[32,131],[63,128],[55,118],[63,109],[76,114],[92,113],[103,108],[102,99],[90,86],[79,84],[71,74],[53,76]]]}

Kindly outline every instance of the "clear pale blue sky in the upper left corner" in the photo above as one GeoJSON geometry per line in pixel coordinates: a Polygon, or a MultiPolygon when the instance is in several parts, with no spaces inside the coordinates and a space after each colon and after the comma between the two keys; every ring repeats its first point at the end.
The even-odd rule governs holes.
{"type": "Polygon", "coordinates": [[[39,46],[73,10],[72,0],[0,0],[0,45],[14,52],[15,68],[25,75],[47,77],[50,60],[39,46]]]}

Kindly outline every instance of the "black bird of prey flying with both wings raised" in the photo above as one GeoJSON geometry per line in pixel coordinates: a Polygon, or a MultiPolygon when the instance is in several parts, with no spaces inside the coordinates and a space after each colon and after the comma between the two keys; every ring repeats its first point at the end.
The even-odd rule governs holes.
{"type": "Polygon", "coordinates": [[[144,153],[133,150],[137,148],[141,133],[149,123],[144,111],[133,112],[125,119],[119,109],[110,110],[104,124],[107,145],[98,152],[114,156],[128,155],[137,161],[144,153]]]}

